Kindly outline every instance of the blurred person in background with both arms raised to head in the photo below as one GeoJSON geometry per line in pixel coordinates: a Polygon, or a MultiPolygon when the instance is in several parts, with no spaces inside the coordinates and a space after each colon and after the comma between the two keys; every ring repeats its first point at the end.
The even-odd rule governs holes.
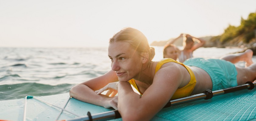
{"type": "Polygon", "coordinates": [[[178,60],[179,62],[183,63],[186,59],[189,59],[193,57],[193,52],[199,48],[202,47],[205,44],[205,41],[200,38],[195,38],[189,34],[180,34],[177,38],[168,41],[167,45],[173,44],[175,41],[178,40],[178,38],[183,37],[183,49],[181,51],[178,51],[178,60]],[[196,41],[197,43],[194,44],[196,41]]]}

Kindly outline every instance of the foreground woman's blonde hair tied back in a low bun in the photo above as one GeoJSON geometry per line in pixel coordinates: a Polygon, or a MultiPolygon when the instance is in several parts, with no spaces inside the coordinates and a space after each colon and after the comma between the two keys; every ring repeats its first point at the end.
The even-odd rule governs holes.
{"type": "Polygon", "coordinates": [[[123,41],[130,43],[131,47],[139,54],[148,53],[149,60],[151,61],[155,56],[154,47],[149,47],[147,38],[145,35],[135,28],[126,27],[117,32],[112,38],[109,39],[109,43],[123,41]]]}

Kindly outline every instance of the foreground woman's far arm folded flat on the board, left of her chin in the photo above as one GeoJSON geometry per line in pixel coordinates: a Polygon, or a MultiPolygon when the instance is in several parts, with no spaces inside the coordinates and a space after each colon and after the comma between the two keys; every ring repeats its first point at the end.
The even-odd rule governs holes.
{"type": "Polygon", "coordinates": [[[95,90],[99,90],[108,83],[116,82],[118,78],[112,70],[106,74],[94,79],[85,81],[71,88],[70,96],[83,102],[103,106],[105,108],[113,107],[117,109],[117,97],[109,97],[103,94],[97,94],[95,90]]]}

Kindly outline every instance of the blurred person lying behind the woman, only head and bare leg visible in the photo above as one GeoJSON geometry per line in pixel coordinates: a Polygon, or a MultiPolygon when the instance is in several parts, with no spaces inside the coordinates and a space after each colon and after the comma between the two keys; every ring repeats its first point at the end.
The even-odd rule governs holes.
{"type": "MultiPolygon", "coordinates": [[[[163,51],[164,58],[172,58],[173,60],[177,60],[177,58],[179,57],[179,53],[180,53],[180,50],[174,44],[166,44],[164,46],[164,51],[163,51]]],[[[253,64],[252,56],[253,56],[253,51],[251,49],[247,49],[241,53],[224,55],[220,57],[220,59],[230,61],[233,64],[240,61],[244,61],[245,67],[248,67],[251,64],[253,64]]]]}

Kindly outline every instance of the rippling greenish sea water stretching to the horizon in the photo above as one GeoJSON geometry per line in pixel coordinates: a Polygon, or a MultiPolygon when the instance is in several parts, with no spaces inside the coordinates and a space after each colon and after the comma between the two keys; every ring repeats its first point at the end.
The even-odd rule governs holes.
{"type": "MultiPolygon", "coordinates": [[[[163,47],[154,47],[153,61],[163,47]]],[[[67,93],[111,69],[108,48],[0,48],[0,100],[67,93]]],[[[199,48],[194,57],[219,58],[242,48],[199,48]]],[[[253,57],[256,62],[256,57],[253,57]]],[[[244,62],[236,64],[244,66],[244,62]]]]}

